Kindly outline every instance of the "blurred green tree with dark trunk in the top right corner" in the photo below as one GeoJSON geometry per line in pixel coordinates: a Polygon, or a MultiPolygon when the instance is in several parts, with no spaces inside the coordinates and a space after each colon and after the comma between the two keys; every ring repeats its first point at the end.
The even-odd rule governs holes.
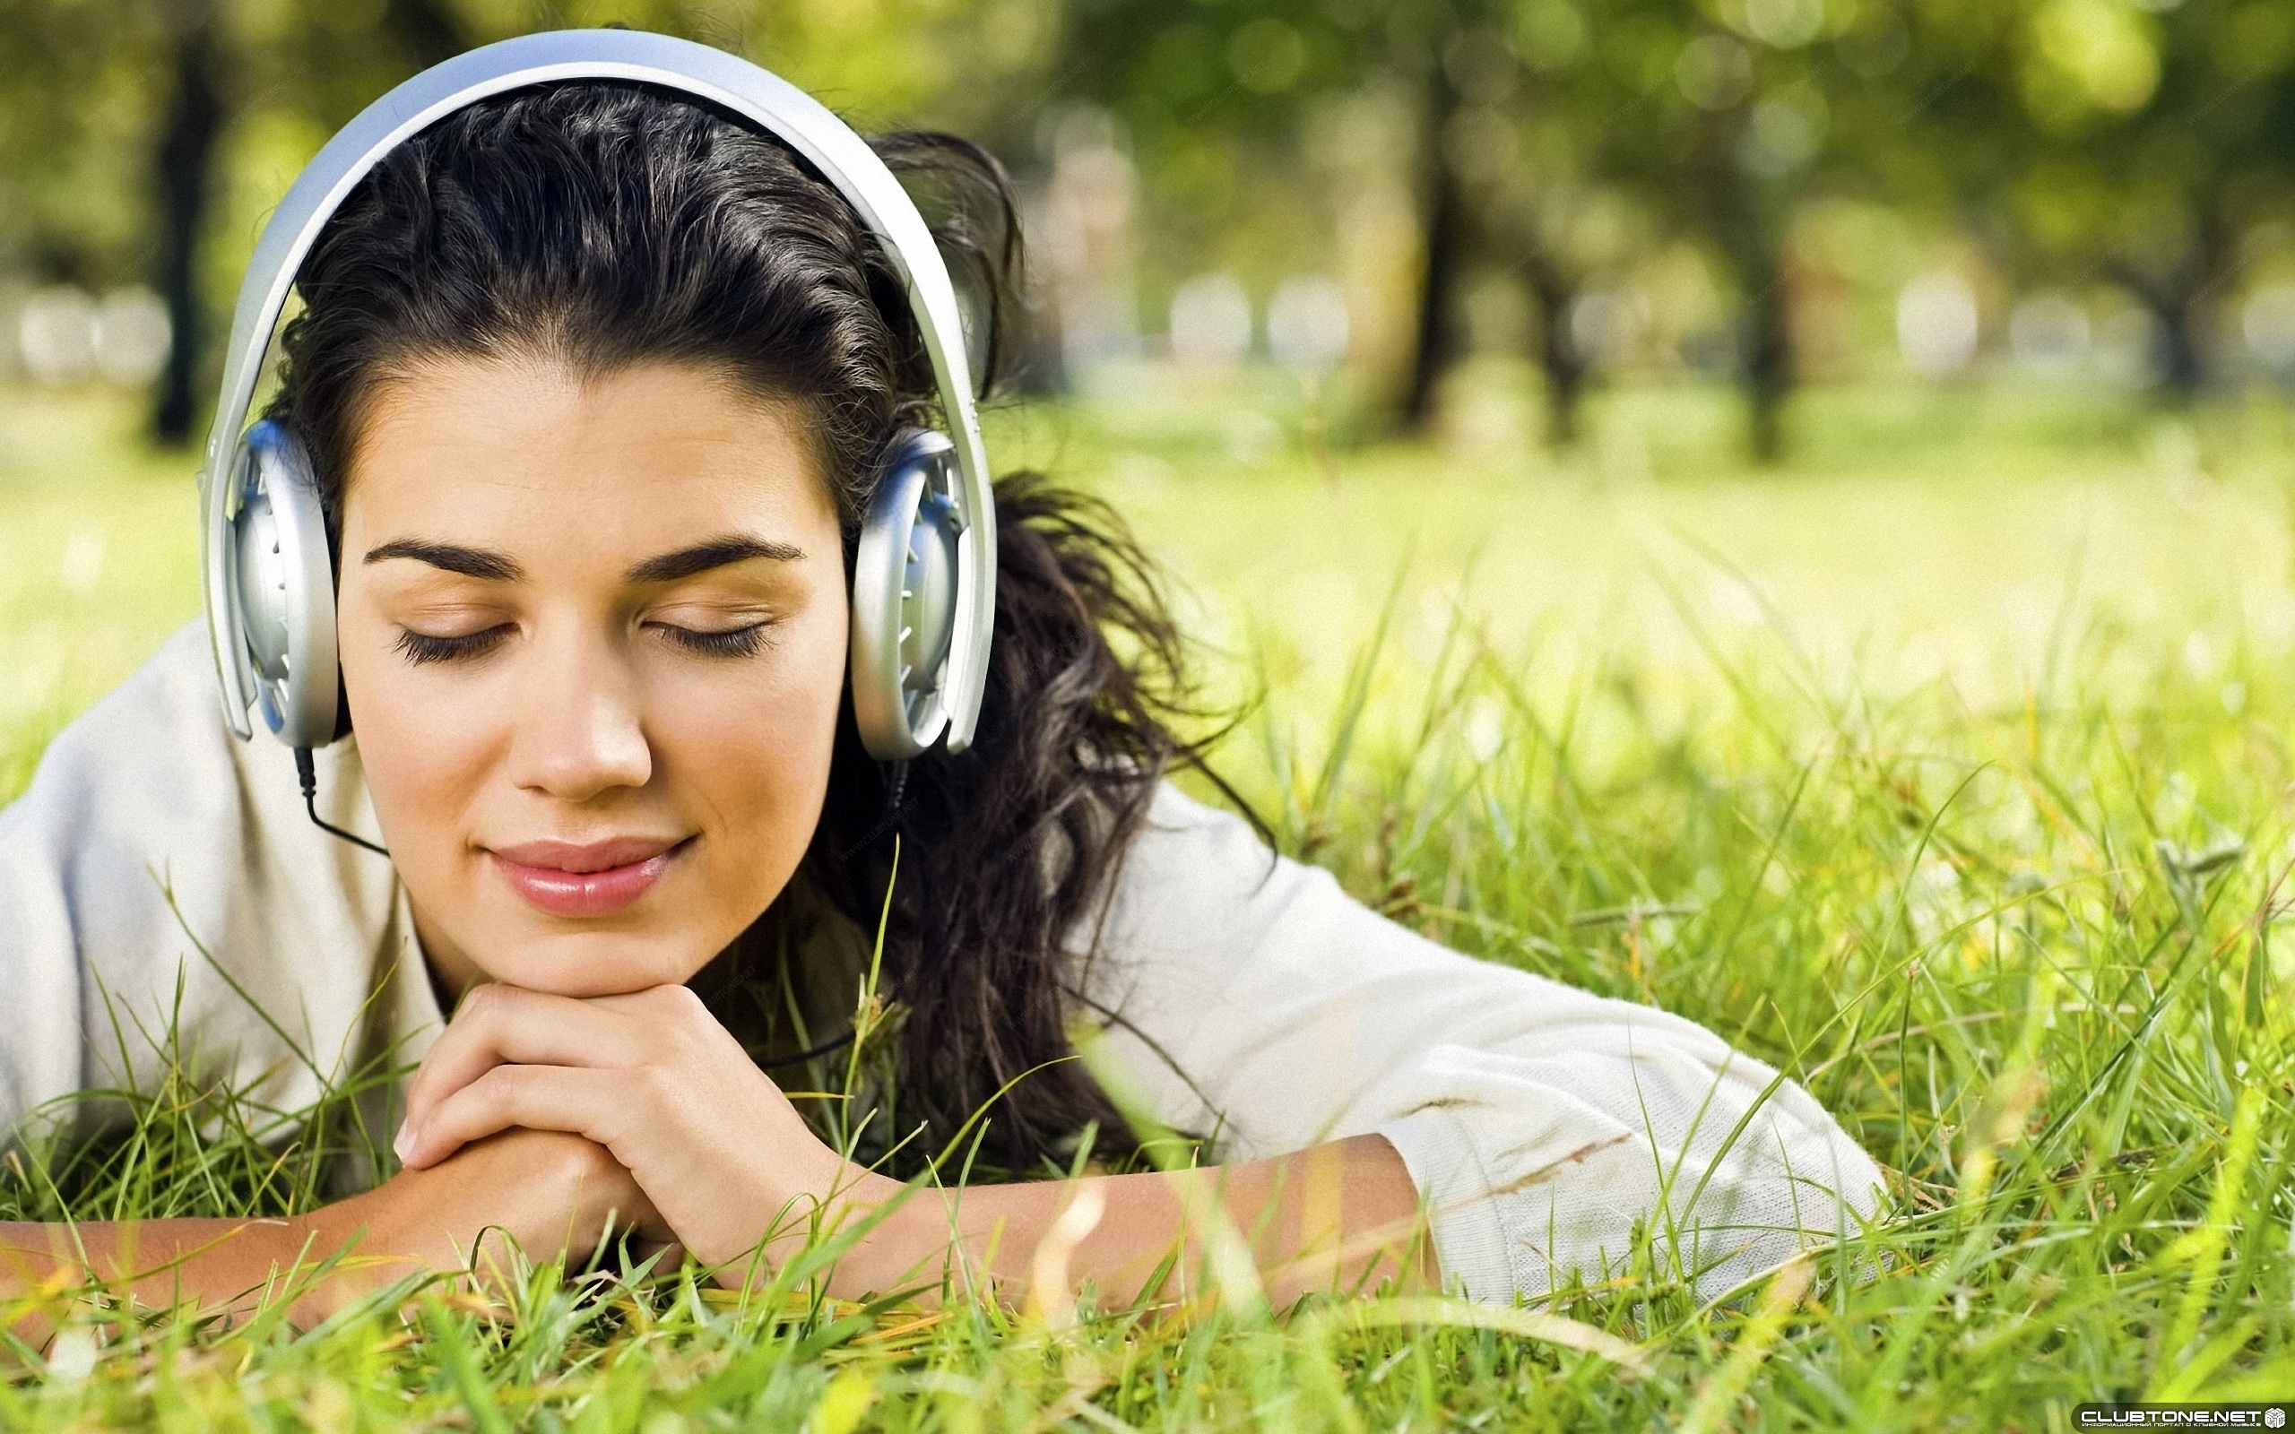
{"type": "Polygon", "coordinates": [[[1921,0],[1958,57],[1942,108],[1969,227],[2013,275],[2118,285],[2171,397],[2210,376],[2210,324],[2254,241],[2295,220],[2295,7],[2284,0],[1921,0]]]}

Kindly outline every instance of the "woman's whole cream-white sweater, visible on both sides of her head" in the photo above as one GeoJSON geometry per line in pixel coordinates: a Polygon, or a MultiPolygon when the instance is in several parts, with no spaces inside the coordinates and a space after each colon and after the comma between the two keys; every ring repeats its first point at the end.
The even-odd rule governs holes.
{"type": "MultiPolygon", "coordinates": [[[[374,831],[351,743],[319,753],[319,789],[374,831]]],[[[1636,1223],[1668,1225],[1662,1191],[1705,1294],[1882,1198],[1808,1092],[1710,1030],[1434,945],[1170,787],[1081,980],[1131,1090],[1221,1159],[1386,1136],[1476,1299],[1604,1278],[1636,1223]]],[[[441,1021],[390,863],[310,824],[285,748],[225,732],[197,626],[0,812],[0,1129],[149,1088],[170,1019],[202,1078],[280,1110],[441,1021]]]]}

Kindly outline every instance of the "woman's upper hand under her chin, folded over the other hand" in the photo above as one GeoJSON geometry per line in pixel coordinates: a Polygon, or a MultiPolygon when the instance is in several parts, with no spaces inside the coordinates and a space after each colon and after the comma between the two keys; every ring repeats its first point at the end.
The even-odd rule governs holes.
{"type": "Polygon", "coordinates": [[[406,1092],[397,1156],[429,1170],[503,1131],[583,1136],[725,1285],[803,1239],[817,1207],[902,1186],[845,1161],[686,987],[549,996],[475,987],[406,1092]]]}

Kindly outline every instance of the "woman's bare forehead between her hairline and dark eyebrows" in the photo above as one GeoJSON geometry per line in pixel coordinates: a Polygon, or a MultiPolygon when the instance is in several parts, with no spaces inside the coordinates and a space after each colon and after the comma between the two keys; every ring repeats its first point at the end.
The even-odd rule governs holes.
{"type": "Polygon", "coordinates": [[[344,525],[624,555],[695,530],[835,530],[796,404],[684,365],[583,376],[553,360],[448,358],[379,385],[344,525]]]}

